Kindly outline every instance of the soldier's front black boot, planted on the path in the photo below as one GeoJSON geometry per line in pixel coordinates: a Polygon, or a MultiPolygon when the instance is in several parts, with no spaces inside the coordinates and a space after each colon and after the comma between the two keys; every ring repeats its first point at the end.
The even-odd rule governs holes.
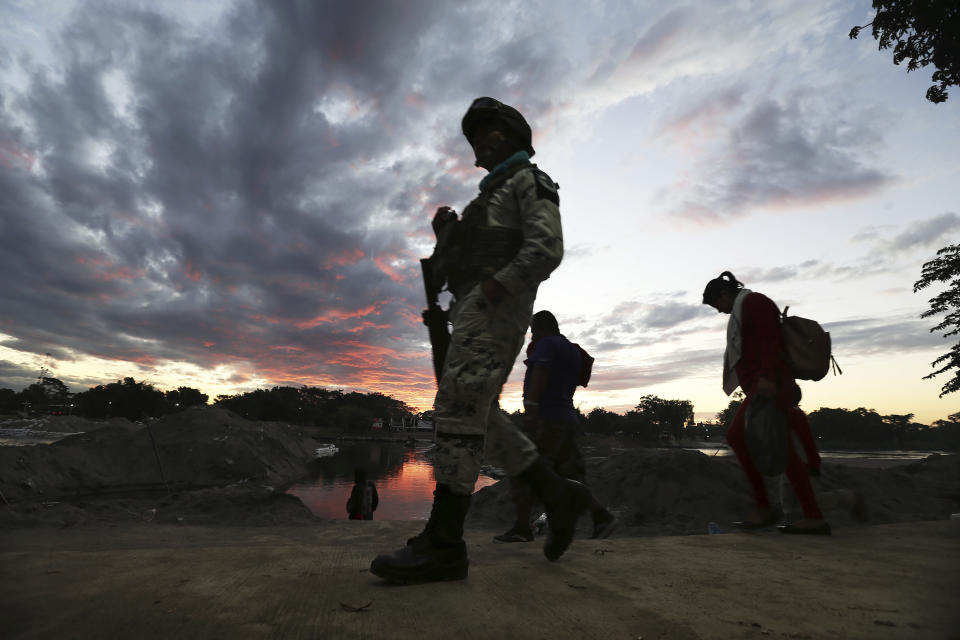
{"type": "Polygon", "coordinates": [[[374,558],[370,573],[398,584],[463,580],[469,565],[463,520],[469,508],[470,496],[451,493],[447,485],[438,484],[427,526],[407,540],[407,546],[374,558]]]}

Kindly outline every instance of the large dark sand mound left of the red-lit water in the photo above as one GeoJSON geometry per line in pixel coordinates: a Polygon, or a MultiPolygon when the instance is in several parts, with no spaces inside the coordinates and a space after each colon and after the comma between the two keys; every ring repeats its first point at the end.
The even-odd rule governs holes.
{"type": "Polygon", "coordinates": [[[308,473],[317,444],[299,427],[254,423],[219,407],[200,407],[151,422],[149,431],[145,425],[110,424],[46,446],[0,447],[0,491],[14,503],[165,489],[164,478],[174,491],[280,485],[308,473]]]}

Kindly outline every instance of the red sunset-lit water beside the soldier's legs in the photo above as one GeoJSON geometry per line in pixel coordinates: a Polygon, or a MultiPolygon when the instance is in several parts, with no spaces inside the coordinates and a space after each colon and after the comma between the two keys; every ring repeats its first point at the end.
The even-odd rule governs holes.
{"type": "MultiPolygon", "coordinates": [[[[432,444],[406,447],[357,442],[337,446],[340,447],[338,453],[313,464],[310,478],[287,490],[300,498],[314,515],[346,520],[353,470],[363,467],[380,495],[374,520],[426,520],[430,516],[435,480],[427,451],[432,444]]],[[[481,475],[476,489],[494,482],[493,478],[481,475]]]]}

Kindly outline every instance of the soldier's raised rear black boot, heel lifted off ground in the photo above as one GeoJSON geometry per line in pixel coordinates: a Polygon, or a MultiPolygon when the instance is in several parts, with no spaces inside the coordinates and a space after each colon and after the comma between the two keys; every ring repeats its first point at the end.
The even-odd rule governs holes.
{"type": "Polygon", "coordinates": [[[590,503],[590,490],[576,480],[558,476],[542,458],[537,458],[518,479],[529,483],[544,505],[548,529],[543,555],[556,560],[573,541],[577,518],[590,503]]]}

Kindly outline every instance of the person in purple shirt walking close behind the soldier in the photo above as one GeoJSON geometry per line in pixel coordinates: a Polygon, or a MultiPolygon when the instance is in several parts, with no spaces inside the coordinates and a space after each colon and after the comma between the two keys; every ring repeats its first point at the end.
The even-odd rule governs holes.
{"type": "MultiPolygon", "coordinates": [[[[579,414],[573,406],[577,385],[587,386],[593,358],[560,333],[556,317],[539,311],[530,322],[533,334],[527,347],[527,371],[523,378],[524,433],[534,444],[541,458],[557,475],[581,484],[586,480],[586,464],[577,446],[579,414]]],[[[533,492],[525,483],[510,478],[516,506],[516,521],[508,531],[494,536],[496,542],[531,542],[533,527],[530,514],[533,492]]],[[[590,493],[587,508],[593,518],[591,538],[606,538],[618,521],[590,493]]]]}

